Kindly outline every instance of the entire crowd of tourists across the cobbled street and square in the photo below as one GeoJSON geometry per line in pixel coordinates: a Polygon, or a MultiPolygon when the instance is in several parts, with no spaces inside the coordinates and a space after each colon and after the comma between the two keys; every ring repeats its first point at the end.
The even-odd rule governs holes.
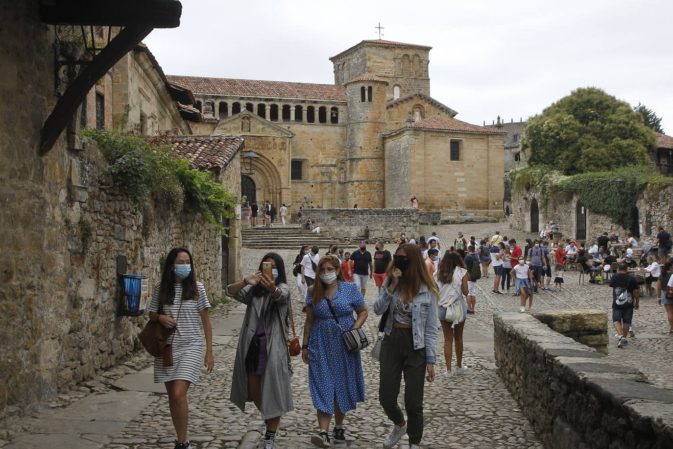
{"type": "MultiPolygon", "coordinates": [[[[262,211],[270,211],[268,206],[265,202],[262,211]]],[[[360,350],[369,344],[361,329],[369,318],[364,300],[369,279],[378,289],[371,311],[380,316],[380,334],[369,354],[380,363],[379,401],[392,427],[382,441],[384,448],[396,446],[405,434],[410,448],[419,448],[424,383],[435,380],[439,330],[446,363],[441,377],[451,379],[468,371],[462,361],[464,325],[475,312],[476,282],[491,277],[490,266],[491,293],[509,293],[513,285],[513,295],[520,296],[520,312],[526,310],[526,303],[532,309],[534,294],[563,289],[563,273],[571,267],[590,275],[590,283],[604,283],[609,276],[618,347],[628,344],[629,333],[633,336],[633,312],[640,301],[640,285],[633,273],[641,270],[647,273],[647,293],[656,291],[660,304],[666,306],[673,333],[673,263],[666,260],[673,239],[668,232],[660,228],[657,256],[645,257],[639,267],[639,243],[631,234],[624,242],[606,232],[588,244],[566,240],[564,245],[553,239],[553,232],[548,234],[554,229],[551,225],[543,234],[552,239],[526,239],[524,247],[500,232],[479,241],[458,233],[444,253],[434,232],[418,240],[400,233],[394,254],[382,240],[374,244],[374,255],[365,240],[352,252],[334,244],[322,256],[318,246],[304,245],[291,270],[305,314],[301,343],[295,333],[285,261],[269,252],[257,271],[227,285],[227,296],[246,304],[230,400],[241,411],[248,401],[254,403],[266,425],[263,447],[273,449],[281,417],[293,410],[291,357],[301,355],[308,364],[318,423],[311,441],[320,448],[345,443],[346,415],[365,401],[360,350]],[[662,260],[665,263],[660,266],[662,260]],[[555,288],[551,288],[553,271],[555,288]],[[397,402],[402,375],[404,411],[397,402]]],[[[153,290],[149,318],[169,331],[162,357],[155,357],[154,381],[164,382],[168,392],[176,449],[192,447],[187,440],[187,390],[199,379],[201,364],[211,371],[215,363],[209,307],[203,284],[194,276],[192,254],[186,248],[173,248],[153,290]]]]}

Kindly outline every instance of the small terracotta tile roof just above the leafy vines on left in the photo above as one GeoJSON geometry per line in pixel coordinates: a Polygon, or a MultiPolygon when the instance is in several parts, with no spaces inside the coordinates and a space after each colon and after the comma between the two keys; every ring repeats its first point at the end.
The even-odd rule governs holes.
{"type": "Polygon", "coordinates": [[[158,143],[174,145],[175,153],[188,160],[192,168],[217,171],[226,168],[244,147],[243,137],[231,135],[168,136],[158,143]]]}

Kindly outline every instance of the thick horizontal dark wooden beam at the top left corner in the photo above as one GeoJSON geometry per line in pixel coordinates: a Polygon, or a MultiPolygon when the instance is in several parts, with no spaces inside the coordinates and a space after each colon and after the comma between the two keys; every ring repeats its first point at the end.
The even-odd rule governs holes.
{"type": "Polygon", "coordinates": [[[40,0],[40,22],[52,25],[180,26],[177,0],[40,0]]]}

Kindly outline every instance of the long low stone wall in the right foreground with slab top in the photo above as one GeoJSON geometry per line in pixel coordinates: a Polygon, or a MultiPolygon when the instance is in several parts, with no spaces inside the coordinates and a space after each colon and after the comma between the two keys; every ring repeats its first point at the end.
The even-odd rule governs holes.
{"type": "Polygon", "coordinates": [[[500,376],[547,448],[673,447],[673,390],[534,316],[494,314],[500,376]]]}

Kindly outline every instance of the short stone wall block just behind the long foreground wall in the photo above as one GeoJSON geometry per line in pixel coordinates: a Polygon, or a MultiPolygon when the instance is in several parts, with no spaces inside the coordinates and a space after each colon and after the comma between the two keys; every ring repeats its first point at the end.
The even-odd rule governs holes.
{"type": "Polygon", "coordinates": [[[544,310],[533,316],[554,331],[607,355],[608,316],[605,310],[544,310]]]}

